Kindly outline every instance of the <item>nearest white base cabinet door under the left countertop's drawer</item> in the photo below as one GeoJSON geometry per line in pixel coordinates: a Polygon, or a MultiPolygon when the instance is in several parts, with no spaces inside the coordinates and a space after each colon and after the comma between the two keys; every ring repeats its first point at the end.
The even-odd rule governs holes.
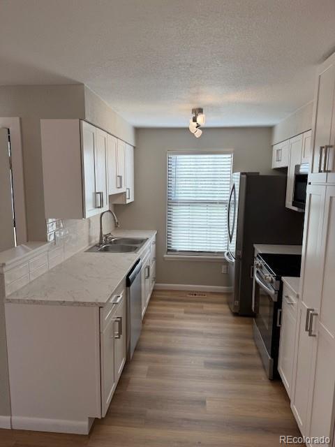
{"type": "Polygon", "coordinates": [[[105,417],[116,387],[114,373],[114,318],[101,334],[101,413],[105,417]]]}

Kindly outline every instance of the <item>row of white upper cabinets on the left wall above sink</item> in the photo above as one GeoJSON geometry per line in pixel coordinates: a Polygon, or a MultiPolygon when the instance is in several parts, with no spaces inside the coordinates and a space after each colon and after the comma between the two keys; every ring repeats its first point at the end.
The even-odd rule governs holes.
{"type": "Polygon", "coordinates": [[[118,198],[112,203],[128,203],[133,159],[128,157],[127,166],[125,142],[80,119],[41,119],[40,129],[46,218],[100,214],[111,195],[118,198]]]}

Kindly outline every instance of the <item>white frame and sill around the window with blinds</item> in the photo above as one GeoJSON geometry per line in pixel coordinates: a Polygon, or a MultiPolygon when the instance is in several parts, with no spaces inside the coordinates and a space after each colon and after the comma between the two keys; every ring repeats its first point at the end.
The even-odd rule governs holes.
{"type": "Polygon", "coordinates": [[[230,178],[232,176],[232,167],[234,164],[234,149],[183,149],[183,150],[174,150],[169,149],[166,153],[166,203],[165,203],[165,255],[164,259],[166,261],[222,261],[224,259],[224,253],[221,251],[168,251],[168,183],[169,183],[169,156],[170,155],[224,155],[229,154],[232,155],[232,166],[230,170],[230,178]]]}

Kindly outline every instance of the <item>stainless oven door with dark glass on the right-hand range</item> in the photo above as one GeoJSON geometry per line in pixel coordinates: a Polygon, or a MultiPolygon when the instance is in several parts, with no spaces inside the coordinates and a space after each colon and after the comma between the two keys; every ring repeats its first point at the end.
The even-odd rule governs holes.
{"type": "Polygon", "coordinates": [[[264,280],[262,272],[255,268],[253,277],[253,334],[269,379],[276,374],[278,362],[279,321],[278,292],[264,280]]]}

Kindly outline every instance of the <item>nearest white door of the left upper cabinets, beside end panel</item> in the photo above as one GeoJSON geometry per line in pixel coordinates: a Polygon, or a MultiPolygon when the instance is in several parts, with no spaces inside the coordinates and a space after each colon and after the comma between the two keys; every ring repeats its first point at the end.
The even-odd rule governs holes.
{"type": "Polygon", "coordinates": [[[84,217],[97,214],[96,209],[96,128],[82,124],[82,163],[84,179],[84,217]]]}

